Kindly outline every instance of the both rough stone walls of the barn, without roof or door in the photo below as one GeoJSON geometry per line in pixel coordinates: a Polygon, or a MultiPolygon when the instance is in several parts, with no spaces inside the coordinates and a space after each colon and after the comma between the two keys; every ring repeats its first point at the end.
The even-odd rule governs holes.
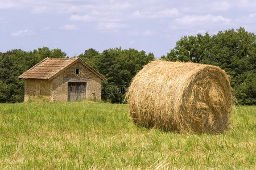
{"type": "Polygon", "coordinates": [[[24,100],[40,95],[49,101],[67,101],[68,82],[64,81],[67,78],[86,79],[86,99],[101,100],[101,78],[80,62],[74,63],[50,81],[25,79],[24,100]],[[76,69],[79,69],[79,74],[76,74],[76,69]]]}

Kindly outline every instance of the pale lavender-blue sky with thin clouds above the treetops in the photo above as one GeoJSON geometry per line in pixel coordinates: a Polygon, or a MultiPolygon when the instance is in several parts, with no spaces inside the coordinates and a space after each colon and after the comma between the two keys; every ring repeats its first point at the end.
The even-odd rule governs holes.
{"type": "Polygon", "coordinates": [[[256,29],[255,0],[0,0],[0,52],[121,46],[166,55],[184,35],[256,29]]]}

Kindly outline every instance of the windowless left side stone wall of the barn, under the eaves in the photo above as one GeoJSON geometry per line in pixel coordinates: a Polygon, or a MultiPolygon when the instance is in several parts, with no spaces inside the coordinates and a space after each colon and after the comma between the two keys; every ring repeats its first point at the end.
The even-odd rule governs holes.
{"type": "Polygon", "coordinates": [[[30,97],[42,96],[44,99],[51,99],[51,82],[44,79],[25,79],[24,83],[25,94],[24,101],[27,101],[30,97]]]}

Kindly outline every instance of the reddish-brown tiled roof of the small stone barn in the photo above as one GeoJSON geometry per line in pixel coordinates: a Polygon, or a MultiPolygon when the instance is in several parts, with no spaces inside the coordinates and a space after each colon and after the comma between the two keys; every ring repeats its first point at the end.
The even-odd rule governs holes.
{"type": "Polygon", "coordinates": [[[45,58],[20,75],[19,78],[50,80],[77,61],[80,61],[85,67],[88,67],[89,70],[93,71],[93,73],[98,75],[102,80],[106,80],[103,75],[98,73],[80,58],[45,58]]]}

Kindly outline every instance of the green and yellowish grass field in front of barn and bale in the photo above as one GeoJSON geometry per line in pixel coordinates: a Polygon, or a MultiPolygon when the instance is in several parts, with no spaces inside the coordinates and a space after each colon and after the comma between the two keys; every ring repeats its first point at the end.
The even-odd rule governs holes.
{"type": "Polygon", "coordinates": [[[256,106],[223,134],[135,126],[126,104],[0,104],[0,169],[255,169],[256,106]]]}

